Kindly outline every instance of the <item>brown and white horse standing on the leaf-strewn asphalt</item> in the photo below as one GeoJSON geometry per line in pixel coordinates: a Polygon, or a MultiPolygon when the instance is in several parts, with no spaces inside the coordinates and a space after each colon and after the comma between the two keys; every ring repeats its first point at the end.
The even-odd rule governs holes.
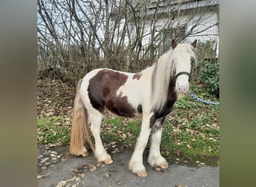
{"type": "Polygon", "coordinates": [[[84,147],[85,137],[98,162],[111,164],[100,139],[100,125],[104,111],[123,117],[142,114],[141,132],[135,145],[129,170],[139,177],[146,177],[142,154],[152,132],[150,153],[147,162],[153,168],[168,168],[161,156],[160,143],[162,123],[172,110],[174,102],[189,91],[189,76],[195,64],[193,43],[176,43],[156,63],[140,73],[126,73],[110,69],[92,70],[77,84],[74,103],[70,153],[88,156],[84,147]],[[95,148],[88,127],[94,135],[95,148]]]}

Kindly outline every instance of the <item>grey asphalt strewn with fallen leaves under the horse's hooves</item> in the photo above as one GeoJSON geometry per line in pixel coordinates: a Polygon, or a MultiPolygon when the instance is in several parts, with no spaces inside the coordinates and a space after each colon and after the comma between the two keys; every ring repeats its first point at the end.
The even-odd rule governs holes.
{"type": "Polygon", "coordinates": [[[92,154],[83,158],[69,156],[67,148],[38,147],[38,186],[219,186],[219,166],[190,167],[169,163],[168,169],[156,171],[147,165],[147,177],[137,177],[128,170],[132,150],[111,154],[114,163],[99,164],[92,154]]]}

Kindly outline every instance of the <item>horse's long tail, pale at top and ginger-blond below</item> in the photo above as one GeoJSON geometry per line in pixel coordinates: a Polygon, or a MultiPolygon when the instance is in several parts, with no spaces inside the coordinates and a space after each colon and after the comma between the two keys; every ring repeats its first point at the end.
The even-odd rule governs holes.
{"type": "Polygon", "coordinates": [[[76,156],[82,155],[87,156],[85,153],[84,142],[85,137],[94,151],[94,144],[91,141],[90,133],[88,129],[88,113],[82,102],[80,96],[80,88],[82,84],[82,79],[76,85],[76,97],[73,108],[73,123],[71,129],[71,139],[70,139],[70,153],[76,156]]]}

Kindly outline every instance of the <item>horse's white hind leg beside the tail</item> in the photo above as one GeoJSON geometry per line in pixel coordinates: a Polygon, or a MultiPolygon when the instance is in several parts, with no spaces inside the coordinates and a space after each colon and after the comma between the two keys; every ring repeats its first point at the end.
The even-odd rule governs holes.
{"type": "Polygon", "coordinates": [[[103,119],[103,114],[99,111],[95,111],[94,114],[90,114],[91,119],[91,132],[94,135],[95,140],[95,156],[98,162],[105,162],[106,164],[111,164],[112,158],[106,153],[103,147],[103,143],[100,138],[100,126],[103,119]]]}

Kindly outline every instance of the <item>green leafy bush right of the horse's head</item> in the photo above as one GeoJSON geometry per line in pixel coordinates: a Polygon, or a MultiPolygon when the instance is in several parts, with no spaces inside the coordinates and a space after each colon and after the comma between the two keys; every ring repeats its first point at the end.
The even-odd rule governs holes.
{"type": "Polygon", "coordinates": [[[198,63],[201,69],[199,79],[207,91],[219,97],[219,61],[198,63]]]}

